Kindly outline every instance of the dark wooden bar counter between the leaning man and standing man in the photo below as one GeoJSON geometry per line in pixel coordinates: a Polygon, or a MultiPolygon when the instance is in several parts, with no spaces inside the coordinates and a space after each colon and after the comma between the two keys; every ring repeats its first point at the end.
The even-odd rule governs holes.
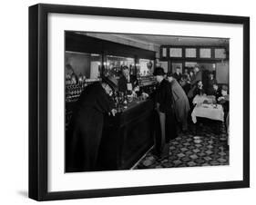
{"type": "Polygon", "coordinates": [[[152,100],[128,103],[116,116],[106,116],[97,167],[100,171],[127,170],[154,144],[152,100]]]}

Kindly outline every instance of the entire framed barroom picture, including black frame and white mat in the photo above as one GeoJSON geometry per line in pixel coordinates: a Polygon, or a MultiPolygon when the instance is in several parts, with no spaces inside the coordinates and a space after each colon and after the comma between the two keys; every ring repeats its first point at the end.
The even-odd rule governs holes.
{"type": "Polygon", "coordinates": [[[29,7],[29,198],[250,187],[250,18],[29,7]]]}

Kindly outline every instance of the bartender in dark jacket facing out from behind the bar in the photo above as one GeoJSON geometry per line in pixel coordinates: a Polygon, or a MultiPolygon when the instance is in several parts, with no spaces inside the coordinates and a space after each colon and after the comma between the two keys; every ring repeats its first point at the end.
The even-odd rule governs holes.
{"type": "Polygon", "coordinates": [[[134,88],[138,85],[136,76],[130,75],[128,66],[124,66],[122,75],[118,80],[118,91],[122,93],[132,93],[134,88]]]}

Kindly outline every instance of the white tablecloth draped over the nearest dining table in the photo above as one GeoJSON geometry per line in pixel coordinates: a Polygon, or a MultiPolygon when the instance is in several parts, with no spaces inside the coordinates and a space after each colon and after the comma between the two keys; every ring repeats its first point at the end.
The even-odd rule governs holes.
{"type": "Polygon", "coordinates": [[[216,108],[212,104],[197,105],[191,113],[191,117],[194,123],[197,122],[197,117],[224,122],[224,112],[220,104],[217,104],[216,108]]]}

